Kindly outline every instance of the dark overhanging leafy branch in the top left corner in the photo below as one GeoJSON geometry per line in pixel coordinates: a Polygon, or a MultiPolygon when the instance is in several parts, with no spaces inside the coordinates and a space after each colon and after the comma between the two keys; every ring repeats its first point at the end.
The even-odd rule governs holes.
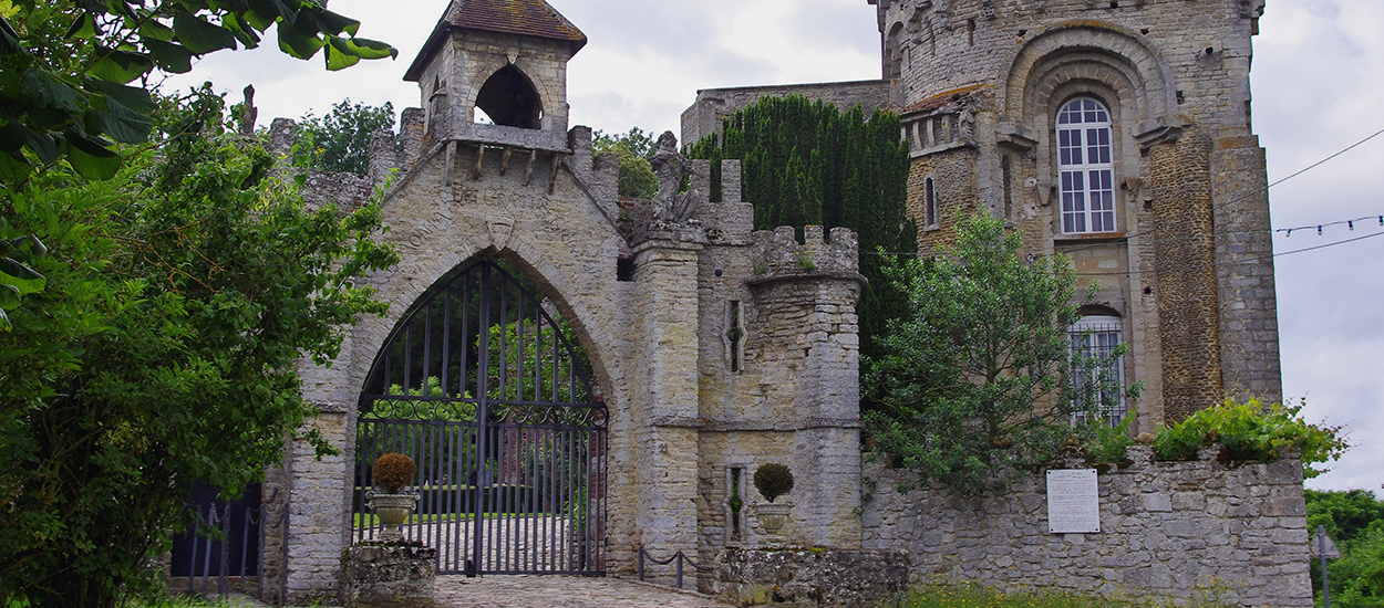
{"type": "Polygon", "coordinates": [[[65,159],[86,178],[119,171],[119,144],[143,144],[158,104],[143,84],[192,59],[253,48],[271,25],[284,53],[324,51],[328,69],[396,57],[356,37],[360,22],[316,0],[12,0],[0,17],[0,184],[65,159]],[[131,86],[140,80],[141,84],[131,86]]]}

